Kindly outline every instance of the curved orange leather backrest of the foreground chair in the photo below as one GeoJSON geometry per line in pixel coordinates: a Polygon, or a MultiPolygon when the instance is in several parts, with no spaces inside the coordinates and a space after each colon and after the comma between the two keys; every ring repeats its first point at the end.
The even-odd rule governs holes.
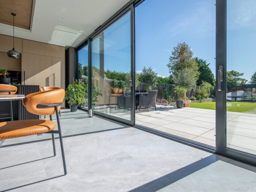
{"type": "MultiPolygon", "coordinates": [[[[26,107],[27,111],[36,115],[52,115],[55,113],[55,108],[37,108],[37,105],[45,104],[57,104],[63,102],[65,96],[64,89],[55,89],[50,91],[40,91],[37,93],[31,93],[25,96],[23,99],[23,105],[26,107]]],[[[60,106],[58,106],[58,111],[60,106]]]]}

